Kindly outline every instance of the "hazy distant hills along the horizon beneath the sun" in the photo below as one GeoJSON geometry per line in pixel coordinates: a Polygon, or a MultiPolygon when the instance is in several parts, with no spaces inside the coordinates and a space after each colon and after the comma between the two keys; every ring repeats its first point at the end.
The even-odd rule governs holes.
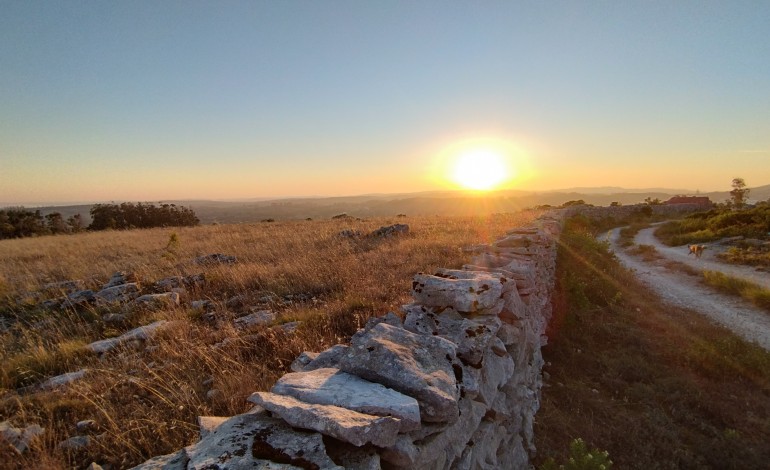
{"type": "MultiPolygon", "coordinates": [[[[613,202],[623,205],[644,202],[646,198],[666,201],[693,191],[665,188],[624,189],[616,187],[572,188],[559,191],[506,190],[479,195],[463,191],[426,191],[419,193],[367,194],[361,196],[255,199],[243,201],[179,200],[163,201],[192,208],[201,223],[258,222],[264,219],[291,220],[330,218],[347,213],[355,217],[406,215],[482,215],[495,212],[518,211],[527,207],[549,204],[561,205],[567,201],[584,200],[588,204],[608,206],[613,202]]],[[[729,199],[729,191],[699,193],[714,202],[729,199]]],[[[770,185],[751,188],[750,201],[770,198],[770,185]]],[[[64,218],[82,214],[90,223],[91,205],[39,207],[43,214],[60,212],[64,218]]]]}

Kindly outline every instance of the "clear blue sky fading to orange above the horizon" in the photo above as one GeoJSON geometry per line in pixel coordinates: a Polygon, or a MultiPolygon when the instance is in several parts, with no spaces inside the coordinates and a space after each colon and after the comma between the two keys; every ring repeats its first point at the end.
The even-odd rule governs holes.
{"type": "Polygon", "coordinates": [[[0,0],[0,204],[443,189],[490,142],[502,187],[770,184],[770,2],[0,0]]]}

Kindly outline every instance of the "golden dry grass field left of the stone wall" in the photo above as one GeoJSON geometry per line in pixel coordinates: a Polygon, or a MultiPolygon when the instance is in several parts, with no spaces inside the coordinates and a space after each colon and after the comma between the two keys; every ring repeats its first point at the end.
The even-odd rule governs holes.
{"type": "MultiPolygon", "coordinates": [[[[39,424],[41,439],[22,457],[6,447],[0,466],[84,467],[95,461],[125,468],[196,440],[197,416],[228,416],[249,408],[245,398],[266,390],[303,350],[345,342],[374,315],[410,301],[412,276],[459,267],[464,247],[490,243],[538,214],[209,225],[84,233],[0,242],[0,421],[39,424]],[[391,238],[346,238],[408,223],[391,238]],[[233,265],[202,267],[197,256],[223,253],[233,265]],[[206,284],[183,295],[180,307],[137,312],[119,324],[103,316],[120,307],[81,311],[35,305],[49,282],[80,279],[98,288],[116,271],[140,283],[203,272],[206,284]],[[189,307],[210,300],[214,321],[189,307]],[[229,302],[228,302],[229,301],[229,302]],[[279,314],[273,325],[233,327],[234,317],[259,305],[279,314]],[[85,345],[130,328],[173,320],[146,344],[97,357],[85,345]],[[294,333],[276,324],[302,320],[294,333]],[[85,378],[54,390],[46,378],[87,368],[85,378]],[[26,387],[26,388],[24,388],[26,387]],[[60,442],[92,419],[90,443],[67,450],[60,442]]],[[[125,312],[123,312],[125,313],[125,312]]]]}

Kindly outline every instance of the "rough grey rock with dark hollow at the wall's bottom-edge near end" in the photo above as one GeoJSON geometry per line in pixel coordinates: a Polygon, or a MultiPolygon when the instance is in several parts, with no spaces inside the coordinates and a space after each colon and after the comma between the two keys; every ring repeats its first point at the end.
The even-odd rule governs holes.
{"type": "Polygon", "coordinates": [[[250,412],[224,421],[188,447],[187,468],[342,470],[325,450],[321,434],[295,431],[264,412],[250,412]]]}

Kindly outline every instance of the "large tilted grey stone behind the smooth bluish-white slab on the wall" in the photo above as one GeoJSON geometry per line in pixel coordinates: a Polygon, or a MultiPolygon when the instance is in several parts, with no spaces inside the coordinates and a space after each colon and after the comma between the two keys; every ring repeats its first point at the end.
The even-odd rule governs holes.
{"type": "Polygon", "coordinates": [[[416,398],[425,421],[451,422],[458,413],[455,357],[451,341],[380,323],[353,335],[340,369],[416,398]]]}

